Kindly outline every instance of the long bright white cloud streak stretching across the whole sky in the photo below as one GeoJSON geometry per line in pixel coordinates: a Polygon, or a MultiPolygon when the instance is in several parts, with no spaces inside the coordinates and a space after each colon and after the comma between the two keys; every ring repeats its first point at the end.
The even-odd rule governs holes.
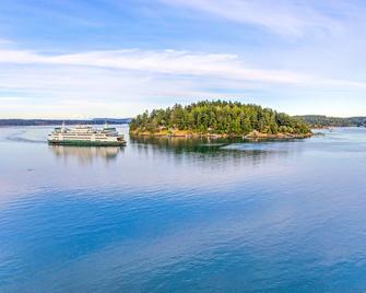
{"type": "Polygon", "coordinates": [[[285,70],[256,69],[247,66],[239,56],[229,54],[126,49],[45,55],[29,50],[0,49],[0,63],[95,67],[151,74],[214,77],[262,83],[365,86],[365,83],[356,81],[332,80],[285,70]]]}

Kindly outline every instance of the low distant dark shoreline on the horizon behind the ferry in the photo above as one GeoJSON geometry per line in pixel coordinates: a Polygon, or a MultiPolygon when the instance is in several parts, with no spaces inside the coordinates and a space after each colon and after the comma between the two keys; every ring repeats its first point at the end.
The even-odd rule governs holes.
{"type": "Polygon", "coordinates": [[[103,125],[107,124],[129,124],[130,118],[113,119],[113,118],[94,118],[90,120],[60,120],[60,119],[0,119],[0,126],[47,126],[47,125],[103,125]]]}

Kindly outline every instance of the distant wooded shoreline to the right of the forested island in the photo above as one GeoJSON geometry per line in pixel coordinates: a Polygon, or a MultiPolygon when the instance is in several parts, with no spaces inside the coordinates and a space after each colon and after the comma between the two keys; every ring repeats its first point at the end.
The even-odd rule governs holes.
{"type": "Polygon", "coordinates": [[[311,127],[347,127],[347,126],[365,126],[366,117],[328,117],[323,115],[304,115],[295,116],[296,118],[303,119],[306,124],[311,127]]]}

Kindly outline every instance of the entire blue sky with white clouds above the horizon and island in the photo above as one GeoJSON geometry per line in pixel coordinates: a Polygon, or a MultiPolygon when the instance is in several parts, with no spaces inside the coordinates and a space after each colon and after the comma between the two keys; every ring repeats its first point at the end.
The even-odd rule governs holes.
{"type": "Polygon", "coordinates": [[[366,116],[363,0],[0,0],[0,118],[201,99],[366,116]]]}

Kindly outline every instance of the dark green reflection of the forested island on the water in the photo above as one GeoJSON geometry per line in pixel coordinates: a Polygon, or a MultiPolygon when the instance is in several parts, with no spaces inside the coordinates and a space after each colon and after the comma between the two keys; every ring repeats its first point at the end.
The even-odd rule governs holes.
{"type": "Polygon", "coordinates": [[[174,159],[176,162],[189,160],[189,162],[220,163],[224,165],[238,164],[240,162],[250,162],[257,165],[268,160],[297,155],[302,151],[302,141],[295,140],[248,141],[240,138],[130,137],[130,148],[146,157],[164,156],[174,159]]]}

